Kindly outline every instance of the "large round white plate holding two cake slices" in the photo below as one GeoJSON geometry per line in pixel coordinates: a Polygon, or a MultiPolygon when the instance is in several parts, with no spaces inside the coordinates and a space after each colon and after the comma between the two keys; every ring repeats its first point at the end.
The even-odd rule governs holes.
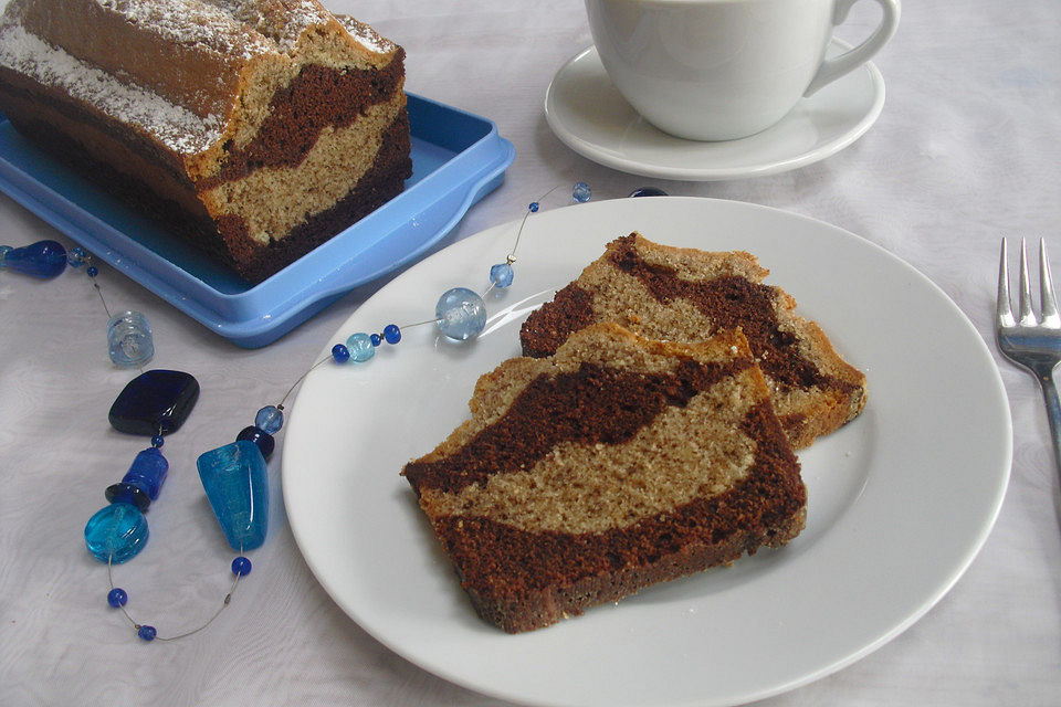
{"type": "MultiPolygon", "coordinates": [[[[409,270],[325,344],[430,317],[481,288],[517,223],[409,270]]],[[[406,329],[367,365],[305,381],[287,428],[283,488],[298,547],[357,623],[423,668],[533,705],[733,705],[822,677],[926,612],[995,521],[1011,458],[1009,407],[984,341],[908,265],[847,231],[774,209],[695,198],[622,199],[527,220],[508,291],[469,344],[406,329]],[[609,240],[756,254],[869,379],[854,422],[800,454],[807,529],[787,548],[650,588],[519,635],[476,618],[402,465],[468,415],[476,378],[519,351],[526,314],[609,240]]]]}

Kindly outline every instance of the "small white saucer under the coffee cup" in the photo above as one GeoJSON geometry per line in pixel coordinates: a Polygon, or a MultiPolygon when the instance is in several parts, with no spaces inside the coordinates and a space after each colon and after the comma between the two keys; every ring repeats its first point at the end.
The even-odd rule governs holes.
{"type": "MultiPolygon", "coordinates": [[[[833,40],[829,54],[850,49],[833,40]]],[[[714,181],[776,175],[817,162],[862,137],[884,107],[884,78],[872,62],[803,98],[777,125],[750,137],[697,143],[648,123],[619,94],[597,48],[553,78],[545,117],[572,150],[614,169],[662,179],[714,181]]]]}

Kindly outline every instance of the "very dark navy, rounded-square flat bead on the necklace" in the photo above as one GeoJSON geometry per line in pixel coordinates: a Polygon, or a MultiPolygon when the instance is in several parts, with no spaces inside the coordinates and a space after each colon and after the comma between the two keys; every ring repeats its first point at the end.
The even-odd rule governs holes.
{"type": "Polygon", "coordinates": [[[127,434],[176,432],[199,399],[199,381],[182,371],[151,370],[130,380],[111,405],[111,426],[127,434]]]}

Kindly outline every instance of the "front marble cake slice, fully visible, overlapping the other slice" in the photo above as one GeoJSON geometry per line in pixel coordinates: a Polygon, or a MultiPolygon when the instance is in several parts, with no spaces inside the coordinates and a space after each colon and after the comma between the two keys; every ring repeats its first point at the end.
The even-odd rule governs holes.
{"type": "Polygon", "coordinates": [[[611,323],[510,359],[402,474],[479,614],[507,632],[780,547],[799,465],[739,331],[697,344],[611,323]]]}

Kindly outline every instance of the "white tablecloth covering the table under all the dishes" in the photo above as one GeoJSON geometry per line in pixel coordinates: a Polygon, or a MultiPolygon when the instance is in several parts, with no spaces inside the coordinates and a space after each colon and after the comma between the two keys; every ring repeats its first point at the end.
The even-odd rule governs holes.
{"type": "MultiPolygon", "coordinates": [[[[407,87],[484,115],[517,158],[505,184],[442,245],[518,218],[557,184],[596,199],[648,183],[820,219],[880,244],[939,285],[994,350],[1002,235],[1044,236],[1061,266],[1061,3],[907,2],[875,60],[883,114],[850,148],[796,171],[713,183],[650,180],[586,160],[543,115],[557,68],[591,41],[581,3],[367,0],[329,3],[408,51],[407,87]]],[[[874,22],[860,3],[841,36],[874,22]]],[[[0,197],[0,243],[72,243],[0,197]]],[[[1054,268],[1061,281],[1061,270],[1054,268]]],[[[174,633],[209,615],[231,551],[204,509],[196,456],[274,401],[384,281],[359,287],[283,339],[244,350],[103,267],[113,307],[147,313],[155,367],[193,372],[202,395],[167,442],[174,471],[150,514],[153,551],[115,570],[136,615],[174,633]]],[[[129,373],[111,366],[104,315],[83,276],[0,273],[0,704],[495,705],[377,643],[316,583],[287,528],[271,465],[271,538],[207,631],[141,644],[105,605],[107,572],[82,529],[143,440],[106,411],[129,373]]],[[[1061,701],[1058,475],[1034,381],[999,359],[1015,424],[997,525],[954,589],[891,643],[839,673],[766,700],[789,705],[1049,705],[1061,701]]],[[[916,404],[916,401],[911,401],[916,404]]],[[[424,404],[410,401],[409,404],[424,404]]],[[[279,435],[283,444],[283,433],[279,435]]],[[[931,542],[932,538],[925,538],[931,542]]]]}

